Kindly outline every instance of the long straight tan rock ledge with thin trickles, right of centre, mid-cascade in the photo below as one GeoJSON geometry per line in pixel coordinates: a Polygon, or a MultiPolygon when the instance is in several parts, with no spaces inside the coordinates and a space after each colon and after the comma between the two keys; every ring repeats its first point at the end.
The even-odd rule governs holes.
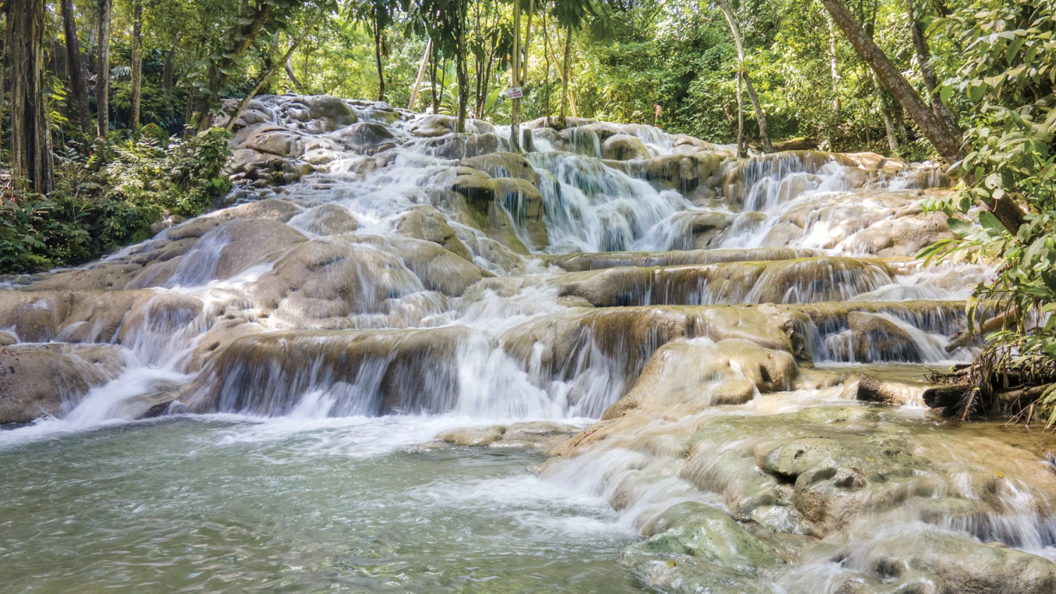
{"type": "Polygon", "coordinates": [[[560,290],[595,307],[845,301],[918,270],[909,258],[822,256],[576,272],[560,290]]]}

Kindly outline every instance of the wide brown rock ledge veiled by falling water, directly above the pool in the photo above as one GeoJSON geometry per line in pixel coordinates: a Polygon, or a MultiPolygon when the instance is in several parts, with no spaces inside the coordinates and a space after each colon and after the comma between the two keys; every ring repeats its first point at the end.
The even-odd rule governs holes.
{"type": "Polygon", "coordinates": [[[245,334],[194,379],[187,407],[278,417],[314,392],[332,399],[321,411],[331,416],[444,413],[457,403],[465,336],[460,327],[245,334]]]}

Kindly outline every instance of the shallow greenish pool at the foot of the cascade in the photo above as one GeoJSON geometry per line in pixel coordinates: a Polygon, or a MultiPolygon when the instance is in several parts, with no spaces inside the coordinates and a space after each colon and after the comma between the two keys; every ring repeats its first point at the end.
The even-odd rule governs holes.
{"type": "MultiPolygon", "coordinates": [[[[465,420],[182,417],[0,432],[4,592],[643,592],[600,497],[465,420]]],[[[60,423],[51,421],[52,423],[60,423]]]]}

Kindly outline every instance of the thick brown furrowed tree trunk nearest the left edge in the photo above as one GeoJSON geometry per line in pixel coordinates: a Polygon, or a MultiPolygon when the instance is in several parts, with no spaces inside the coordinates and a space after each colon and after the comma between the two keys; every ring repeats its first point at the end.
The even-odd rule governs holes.
{"type": "Polygon", "coordinates": [[[7,15],[12,174],[18,187],[46,194],[53,179],[43,94],[44,3],[8,0],[7,15]]]}

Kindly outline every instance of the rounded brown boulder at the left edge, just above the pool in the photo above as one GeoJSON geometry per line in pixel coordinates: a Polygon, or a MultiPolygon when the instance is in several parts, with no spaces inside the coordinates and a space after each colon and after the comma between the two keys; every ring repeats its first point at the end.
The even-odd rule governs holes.
{"type": "Polygon", "coordinates": [[[116,378],[124,365],[124,356],[111,345],[0,347],[0,424],[67,411],[92,386],[116,378]]]}

